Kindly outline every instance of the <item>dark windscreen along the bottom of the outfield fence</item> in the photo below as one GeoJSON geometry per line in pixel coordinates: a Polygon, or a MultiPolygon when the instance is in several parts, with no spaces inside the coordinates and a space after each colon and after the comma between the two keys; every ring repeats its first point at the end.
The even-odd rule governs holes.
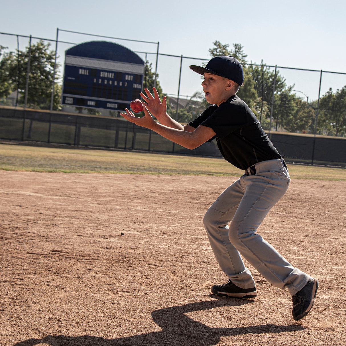
{"type": "MultiPolygon", "coordinates": [[[[271,132],[287,162],[346,166],[346,138],[271,132]]],[[[221,157],[215,140],[189,150],[122,118],[0,108],[0,138],[86,147],[221,157]]]]}

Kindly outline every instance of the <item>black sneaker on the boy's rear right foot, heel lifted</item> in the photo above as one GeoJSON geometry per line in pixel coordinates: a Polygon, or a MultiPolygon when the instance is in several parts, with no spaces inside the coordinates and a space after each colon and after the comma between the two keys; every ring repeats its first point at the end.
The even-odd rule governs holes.
{"type": "Polygon", "coordinates": [[[292,316],[298,321],[308,314],[315,300],[318,289],[318,280],[311,278],[308,283],[292,297],[292,316]]]}

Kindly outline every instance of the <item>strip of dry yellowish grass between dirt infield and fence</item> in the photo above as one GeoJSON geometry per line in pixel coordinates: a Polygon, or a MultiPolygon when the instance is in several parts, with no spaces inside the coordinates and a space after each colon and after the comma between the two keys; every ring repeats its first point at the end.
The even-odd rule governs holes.
{"type": "MultiPolygon", "coordinates": [[[[289,164],[295,179],[346,181],[346,169],[289,164]]],[[[88,148],[0,144],[0,169],[62,173],[129,173],[240,176],[244,171],[223,158],[88,148]]]]}

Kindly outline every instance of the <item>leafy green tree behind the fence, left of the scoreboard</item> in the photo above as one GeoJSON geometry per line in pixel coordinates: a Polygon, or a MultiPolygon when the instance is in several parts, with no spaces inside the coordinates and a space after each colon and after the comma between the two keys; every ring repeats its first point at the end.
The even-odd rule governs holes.
{"type": "MultiPolygon", "coordinates": [[[[4,57],[5,58],[5,57],[4,57]]],[[[29,47],[25,51],[16,53],[10,52],[6,56],[6,63],[9,65],[9,77],[12,85],[18,89],[26,89],[27,64],[29,58],[29,47]]],[[[32,108],[49,109],[51,104],[52,83],[54,79],[55,51],[50,50],[50,43],[45,44],[42,40],[36,44],[31,44],[30,72],[28,87],[28,106],[32,108]]],[[[60,65],[57,63],[56,69],[60,65]]],[[[24,93],[20,99],[24,103],[24,93]]],[[[55,107],[60,104],[58,92],[54,93],[53,104],[55,107]]]]}

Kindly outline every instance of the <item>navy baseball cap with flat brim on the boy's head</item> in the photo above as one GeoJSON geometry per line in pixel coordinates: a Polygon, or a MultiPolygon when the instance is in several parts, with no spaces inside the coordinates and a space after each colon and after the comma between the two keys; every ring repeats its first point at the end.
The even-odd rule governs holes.
{"type": "Polygon", "coordinates": [[[219,55],[214,56],[206,67],[191,65],[190,69],[199,74],[212,73],[217,76],[233,80],[239,85],[243,85],[244,72],[240,62],[233,56],[219,55]]]}

